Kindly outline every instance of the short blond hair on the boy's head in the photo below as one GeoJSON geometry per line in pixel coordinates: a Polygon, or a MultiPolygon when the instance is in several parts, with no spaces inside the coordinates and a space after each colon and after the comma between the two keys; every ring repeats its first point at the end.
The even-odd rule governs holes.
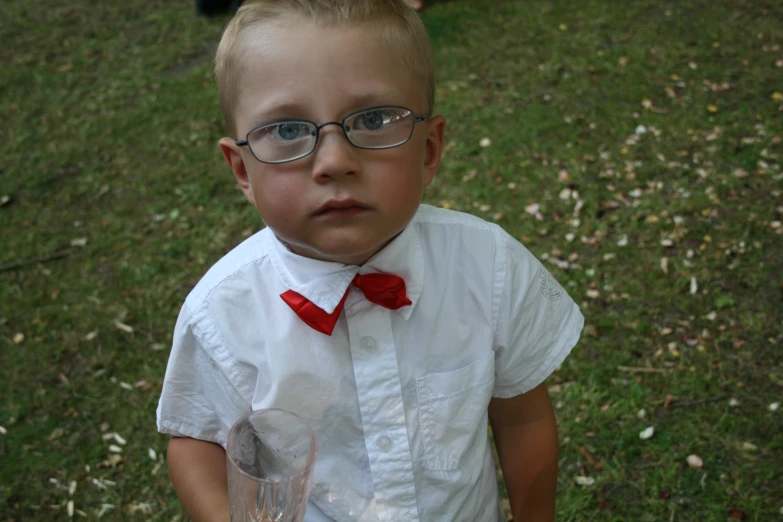
{"type": "Polygon", "coordinates": [[[431,113],[435,105],[432,48],[424,24],[404,0],[246,0],[226,26],[215,55],[220,108],[232,135],[237,132],[234,111],[239,96],[243,34],[266,22],[296,17],[319,25],[384,22],[381,36],[402,53],[406,66],[422,86],[424,114],[431,113]]]}

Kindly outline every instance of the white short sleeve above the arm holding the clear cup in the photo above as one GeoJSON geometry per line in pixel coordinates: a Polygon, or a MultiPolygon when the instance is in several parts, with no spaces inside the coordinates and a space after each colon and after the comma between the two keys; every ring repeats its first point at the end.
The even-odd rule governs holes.
{"type": "Polygon", "coordinates": [[[209,325],[199,324],[183,306],[158,402],[158,431],[225,447],[228,430],[250,411],[250,401],[227,377],[225,357],[216,356],[204,342],[214,337],[203,335],[204,328],[209,325]]]}

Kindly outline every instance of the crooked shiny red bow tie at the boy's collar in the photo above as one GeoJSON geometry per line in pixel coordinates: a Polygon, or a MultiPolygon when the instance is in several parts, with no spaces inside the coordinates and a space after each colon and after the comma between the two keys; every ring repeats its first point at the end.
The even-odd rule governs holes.
{"type": "MultiPolygon", "coordinates": [[[[353,278],[352,283],[356,288],[364,292],[364,296],[368,301],[379,304],[384,308],[397,310],[411,304],[410,299],[405,295],[405,280],[399,276],[391,274],[357,274],[353,278]]],[[[302,321],[321,333],[332,335],[334,325],[337,324],[337,318],[343,310],[345,299],[348,297],[350,290],[351,288],[348,287],[340,304],[337,305],[337,308],[331,314],[327,314],[302,294],[293,290],[280,294],[280,297],[296,312],[296,315],[302,321]]]]}

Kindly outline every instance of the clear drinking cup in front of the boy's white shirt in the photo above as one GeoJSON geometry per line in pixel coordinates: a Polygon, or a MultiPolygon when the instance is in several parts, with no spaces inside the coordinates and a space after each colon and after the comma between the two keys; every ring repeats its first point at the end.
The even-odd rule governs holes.
{"type": "Polygon", "coordinates": [[[228,433],[231,522],[302,522],[318,440],[303,418],[258,410],[228,433]]]}

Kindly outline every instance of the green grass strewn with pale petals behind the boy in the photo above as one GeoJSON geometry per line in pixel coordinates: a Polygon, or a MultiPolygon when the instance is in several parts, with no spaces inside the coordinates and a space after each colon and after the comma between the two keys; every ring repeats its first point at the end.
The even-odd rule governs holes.
{"type": "MultiPolygon", "coordinates": [[[[182,519],[154,420],[171,330],[260,226],[215,145],[226,20],[184,0],[3,11],[0,520],[62,520],[69,501],[182,519]]],[[[781,520],[783,7],[455,0],[422,17],[449,120],[427,201],[498,221],[589,324],[549,381],[558,519],[781,520]]]]}

